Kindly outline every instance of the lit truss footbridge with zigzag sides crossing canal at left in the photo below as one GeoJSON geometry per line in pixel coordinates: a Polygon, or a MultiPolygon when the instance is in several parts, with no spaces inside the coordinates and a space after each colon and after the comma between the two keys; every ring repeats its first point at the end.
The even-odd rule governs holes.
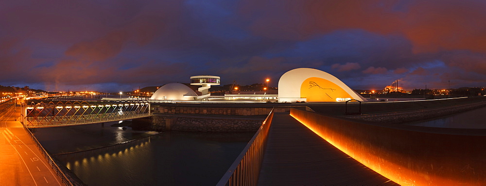
{"type": "Polygon", "coordinates": [[[150,116],[150,102],[57,101],[22,104],[20,120],[29,128],[98,124],[150,116]]]}

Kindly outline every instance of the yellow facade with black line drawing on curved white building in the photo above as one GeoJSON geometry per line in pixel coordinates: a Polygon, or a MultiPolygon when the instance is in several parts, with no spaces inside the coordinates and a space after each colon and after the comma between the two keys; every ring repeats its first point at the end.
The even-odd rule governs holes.
{"type": "Polygon", "coordinates": [[[323,78],[307,78],[300,86],[300,97],[309,102],[347,101],[351,99],[343,88],[323,78]]]}

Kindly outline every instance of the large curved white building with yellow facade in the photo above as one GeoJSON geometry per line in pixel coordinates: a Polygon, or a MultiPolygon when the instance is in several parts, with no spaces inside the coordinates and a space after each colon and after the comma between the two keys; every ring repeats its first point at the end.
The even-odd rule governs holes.
{"type": "Polygon", "coordinates": [[[313,68],[297,68],[278,80],[279,102],[366,101],[338,78],[313,68]]]}

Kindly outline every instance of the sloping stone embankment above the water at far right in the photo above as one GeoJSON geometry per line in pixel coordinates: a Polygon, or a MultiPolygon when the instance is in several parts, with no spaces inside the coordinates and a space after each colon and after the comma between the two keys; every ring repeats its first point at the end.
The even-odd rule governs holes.
{"type": "Polygon", "coordinates": [[[446,115],[455,114],[458,112],[468,111],[472,109],[477,109],[485,106],[486,106],[486,102],[479,102],[473,104],[456,105],[456,106],[441,107],[441,108],[434,108],[434,109],[419,109],[419,110],[403,111],[403,112],[363,114],[363,115],[351,115],[351,116],[343,116],[343,117],[365,120],[370,122],[399,124],[399,123],[413,122],[418,120],[425,120],[434,117],[446,116],[446,115]]]}

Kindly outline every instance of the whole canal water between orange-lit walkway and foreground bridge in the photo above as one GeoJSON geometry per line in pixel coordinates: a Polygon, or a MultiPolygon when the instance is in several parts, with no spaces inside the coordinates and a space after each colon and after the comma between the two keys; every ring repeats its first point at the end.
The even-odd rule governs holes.
{"type": "Polygon", "coordinates": [[[254,132],[170,131],[146,137],[154,134],[110,124],[35,129],[35,136],[51,154],[148,139],[131,146],[56,155],[89,186],[215,185],[254,132]]]}

